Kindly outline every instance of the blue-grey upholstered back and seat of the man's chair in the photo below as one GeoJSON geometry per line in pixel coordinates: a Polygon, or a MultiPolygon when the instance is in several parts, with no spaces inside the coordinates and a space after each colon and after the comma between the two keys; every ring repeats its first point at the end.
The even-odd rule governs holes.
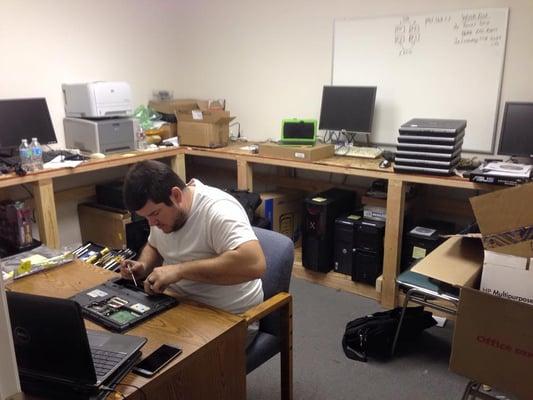
{"type": "MultiPolygon", "coordinates": [[[[266,271],[261,278],[265,300],[279,292],[288,292],[294,262],[294,244],[281,233],[254,227],[266,258],[266,271]]],[[[272,313],[261,320],[260,330],[277,335],[279,313],[272,313]]]]}

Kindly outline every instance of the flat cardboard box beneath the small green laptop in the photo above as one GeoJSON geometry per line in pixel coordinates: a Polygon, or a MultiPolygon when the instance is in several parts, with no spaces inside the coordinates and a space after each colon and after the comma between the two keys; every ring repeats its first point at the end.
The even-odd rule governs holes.
{"type": "Polygon", "coordinates": [[[333,157],[335,155],[335,146],[332,144],[289,146],[276,143],[260,143],[259,155],[296,161],[317,161],[333,157]]]}

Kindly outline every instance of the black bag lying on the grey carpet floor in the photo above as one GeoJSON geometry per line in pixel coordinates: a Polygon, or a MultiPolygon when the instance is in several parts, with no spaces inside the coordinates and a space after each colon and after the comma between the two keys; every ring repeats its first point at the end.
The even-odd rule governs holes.
{"type": "MultiPolygon", "coordinates": [[[[402,308],[397,307],[348,322],[342,337],[346,357],[366,362],[368,356],[390,356],[401,313],[402,308]]],[[[424,307],[409,307],[405,310],[398,341],[412,339],[436,323],[431,312],[424,311],[424,307]]]]}

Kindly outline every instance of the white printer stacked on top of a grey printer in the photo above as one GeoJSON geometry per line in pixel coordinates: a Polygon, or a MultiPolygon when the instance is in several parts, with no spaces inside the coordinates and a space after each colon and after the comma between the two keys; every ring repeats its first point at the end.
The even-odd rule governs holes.
{"type": "Polygon", "coordinates": [[[63,84],[65,115],[78,118],[128,117],[133,114],[127,82],[63,84]]]}

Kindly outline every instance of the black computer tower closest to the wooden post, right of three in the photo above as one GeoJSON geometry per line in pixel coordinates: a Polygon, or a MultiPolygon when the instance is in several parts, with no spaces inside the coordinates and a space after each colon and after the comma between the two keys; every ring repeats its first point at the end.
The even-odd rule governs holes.
{"type": "Polygon", "coordinates": [[[362,219],[355,235],[355,260],[352,280],[375,285],[383,272],[385,222],[362,219]]]}

